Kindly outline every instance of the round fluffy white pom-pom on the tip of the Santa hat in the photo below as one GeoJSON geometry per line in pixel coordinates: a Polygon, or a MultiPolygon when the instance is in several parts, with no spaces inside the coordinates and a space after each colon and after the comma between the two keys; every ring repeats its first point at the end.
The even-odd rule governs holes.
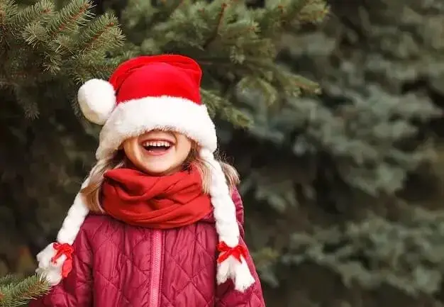
{"type": "Polygon", "coordinates": [[[92,123],[103,125],[116,106],[113,85],[105,80],[91,79],[77,93],[80,110],[92,123]]]}

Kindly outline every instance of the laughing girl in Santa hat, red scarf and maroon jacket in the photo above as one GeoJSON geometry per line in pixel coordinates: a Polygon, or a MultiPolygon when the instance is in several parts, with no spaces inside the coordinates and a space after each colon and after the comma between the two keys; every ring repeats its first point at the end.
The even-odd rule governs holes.
{"type": "Polygon", "coordinates": [[[31,307],[265,306],[200,81],[194,60],[158,55],[80,87],[85,117],[104,125],[98,162],[37,255],[53,287],[31,307]]]}

